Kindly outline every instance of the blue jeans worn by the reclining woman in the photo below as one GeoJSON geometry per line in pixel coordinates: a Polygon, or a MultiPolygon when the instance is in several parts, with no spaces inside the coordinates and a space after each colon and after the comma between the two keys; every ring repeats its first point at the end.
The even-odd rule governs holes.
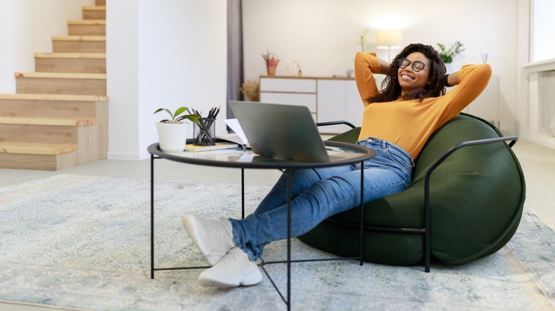
{"type": "MultiPolygon", "coordinates": [[[[411,182],[413,159],[388,141],[357,142],[376,151],[364,162],[364,202],[404,190],[411,182]]],[[[291,170],[291,235],[300,236],[322,220],[360,206],[360,166],[291,170]]],[[[233,242],[253,261],[271,241],[287,239],[287,176],[284,173],[253,214],[230,219],[233,242]]]]}

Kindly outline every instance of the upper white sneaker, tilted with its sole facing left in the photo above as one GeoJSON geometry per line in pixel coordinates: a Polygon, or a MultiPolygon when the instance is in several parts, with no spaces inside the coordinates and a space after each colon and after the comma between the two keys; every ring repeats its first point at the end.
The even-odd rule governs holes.
{"type": "Polygon", "coordinates": [[[187,214],[182,220],[183,226],[189,232],[196,247],[206,256],[212,266],[235,246],[229,219],[203,219],[193,214],[187,214]]]}

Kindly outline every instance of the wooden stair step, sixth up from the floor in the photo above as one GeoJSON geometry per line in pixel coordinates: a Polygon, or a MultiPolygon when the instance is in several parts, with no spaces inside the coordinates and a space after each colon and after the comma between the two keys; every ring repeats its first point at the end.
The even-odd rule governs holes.
{"type": "Polygon", "coordinates": [[[106,36],[53,36],[54,53],[106,53],[106,36]]]}

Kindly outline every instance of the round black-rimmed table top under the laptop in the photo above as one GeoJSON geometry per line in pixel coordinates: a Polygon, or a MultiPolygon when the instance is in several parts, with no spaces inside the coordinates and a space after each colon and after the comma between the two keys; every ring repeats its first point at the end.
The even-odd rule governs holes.
{"type": "Polygon", "coordinates": [[[376,151],[373,149],[353,143],[324,141],[324,145],[329,155],[329,161],[324,162],[269,158],[257,155],[250,151],[250,149],[243,148],[196,152],[164,152],[160,150],[158,143],[153,143],[148,147],[148,151],[159,158],[176,162],[226,168],[324,168],[360,163],[376,155],[376,151]]]}

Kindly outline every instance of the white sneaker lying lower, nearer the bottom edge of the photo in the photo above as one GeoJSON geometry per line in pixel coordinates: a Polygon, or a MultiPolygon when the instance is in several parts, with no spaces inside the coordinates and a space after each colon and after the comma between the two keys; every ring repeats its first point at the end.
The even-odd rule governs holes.
{"type": "Polygon", "coordinates": [[[261,281],[262,273],[256,263],[238,247],[230,249],[221,261],[199,275],[199,283],[207,286],[250,286],[261,281]]]}

